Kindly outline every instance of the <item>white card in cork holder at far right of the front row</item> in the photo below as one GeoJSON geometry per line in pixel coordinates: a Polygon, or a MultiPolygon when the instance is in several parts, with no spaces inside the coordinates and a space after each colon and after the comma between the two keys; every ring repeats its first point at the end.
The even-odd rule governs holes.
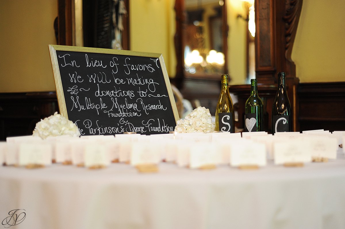
{"type": "Polygon", "coordinates": [[[309,142],[312,150],[312,158],[336,159],[338,150],[338,139],[334,137],[308,135],[305,141],[309,142]]]}

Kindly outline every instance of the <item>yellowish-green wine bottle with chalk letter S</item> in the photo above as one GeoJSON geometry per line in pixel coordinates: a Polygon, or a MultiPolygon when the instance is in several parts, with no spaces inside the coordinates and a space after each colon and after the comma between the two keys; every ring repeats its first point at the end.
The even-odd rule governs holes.
{"type": "Polygon", "coordinates": [[[234,105],[228,88],[229,75],[221,75],[221,91],[216,107],[216,131],[235,133],[234,105]]]}

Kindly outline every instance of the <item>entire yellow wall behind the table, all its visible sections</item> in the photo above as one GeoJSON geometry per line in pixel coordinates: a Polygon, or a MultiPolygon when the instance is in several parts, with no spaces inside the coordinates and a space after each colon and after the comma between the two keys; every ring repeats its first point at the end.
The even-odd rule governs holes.
{"type": "MultiPolygon", "coordinates": [[[[162,53],[175,76],[175,0],[130,1],[131,50],[162,53]]],[[[231,84],[246,78],[244,21],[239,0],[228,4],[228,57],[231,84]]],[[[292,59],[300,82],[344,81],[345,1],[304,0],[292,59]]],[[[0,92],[55,91],[48,44],[56,44],[53,22],[57,0],[1,2],[0,92]]]]}

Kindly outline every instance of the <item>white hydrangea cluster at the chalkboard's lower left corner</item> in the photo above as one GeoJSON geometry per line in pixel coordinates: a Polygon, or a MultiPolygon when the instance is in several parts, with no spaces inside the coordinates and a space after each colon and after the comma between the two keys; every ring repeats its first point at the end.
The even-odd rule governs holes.
{"type": "Polygon", "coordinates": [[[80,133],[76,124],[55,112],[54,115],[43,120],[41,119],[41,121],[36,124],[32,135],[45,139],[47,137],[62,135],[78,137],[80,133]]]}

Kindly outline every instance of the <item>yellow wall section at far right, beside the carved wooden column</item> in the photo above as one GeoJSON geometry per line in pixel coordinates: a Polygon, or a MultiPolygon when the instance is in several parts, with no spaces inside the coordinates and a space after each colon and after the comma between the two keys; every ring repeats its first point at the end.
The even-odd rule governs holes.
{"type": "Polygon", "coordinates": [[[303,0],[292,51],[301,83],[345,81],[344,23],[344,0],[303,0]]]}

